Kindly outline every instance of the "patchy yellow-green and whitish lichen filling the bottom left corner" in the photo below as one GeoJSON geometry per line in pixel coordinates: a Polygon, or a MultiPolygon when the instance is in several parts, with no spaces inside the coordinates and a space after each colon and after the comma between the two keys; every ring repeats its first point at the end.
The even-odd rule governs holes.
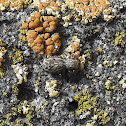
{"type": "Polygon", "coordinates": [[[0,126],[8,126],[8,124],[10,126],[24,126],[24,123],[28,126],[34,126],[32,124],[34,116],[34,108],[30,102],[25,100],[10,109],[10,112],[6,114],[6,119],[0,120],[0,126]],[[22,114],[24,117],[21,116],[22,114]]]}

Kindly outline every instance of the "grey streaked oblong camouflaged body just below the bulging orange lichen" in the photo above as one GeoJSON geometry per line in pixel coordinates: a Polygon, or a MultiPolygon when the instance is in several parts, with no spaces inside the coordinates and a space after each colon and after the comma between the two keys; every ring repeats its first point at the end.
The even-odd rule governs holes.
{"type": "Polygon", "coordinates": [[[67,70],[79,70],[80,61],[76,57],[50,57],[43,61],[43,69],[47,72],[58,72],[64,68],[67,70]]]}

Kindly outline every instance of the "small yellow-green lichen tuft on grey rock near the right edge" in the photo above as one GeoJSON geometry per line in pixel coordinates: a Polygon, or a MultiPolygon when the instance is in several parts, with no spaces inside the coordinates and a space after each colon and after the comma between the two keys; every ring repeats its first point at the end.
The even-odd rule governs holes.
{"type": "Polygon", "coordinates": [[[124,32],[117,32],[115,34],[115,36],[117,36],[115,38],[115,45],[121,45],[122,47],[124,47],[124,45],[126,44],[126,41],[124,40],[126,38],[126,33],[124,32]]]}

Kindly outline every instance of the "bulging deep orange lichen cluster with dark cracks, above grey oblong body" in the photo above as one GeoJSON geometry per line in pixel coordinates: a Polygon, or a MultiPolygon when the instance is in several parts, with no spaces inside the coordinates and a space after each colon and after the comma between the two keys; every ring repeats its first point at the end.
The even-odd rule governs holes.
{"type": "Polygon", "coordinates": [[[39,12],[33,12],[29,20],[22,23],[21,29],[27,29],[28,45],[34,52],[42,56],[44,52],[47,55],[55,54],[61,46],[59,34],[52,34],[57,25],[56,17],[42,16],[39,12]]]}

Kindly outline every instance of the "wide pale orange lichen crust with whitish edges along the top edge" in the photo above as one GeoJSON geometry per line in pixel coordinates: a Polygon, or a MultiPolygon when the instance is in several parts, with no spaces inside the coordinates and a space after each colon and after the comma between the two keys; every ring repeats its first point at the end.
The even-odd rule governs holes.
{"type": "MultiPolygon", "coordinates": [[[[78,16],[82,17],[84,24],[96,19],[110,4],[108,0],[65,0],[65,3],[70,9],[75,9],[78,12],[78,16]],[[72,8],[71,5],[73,5],[72,8]]],[[[104,13],[109,14],[109,10],[104,13]]]]}

